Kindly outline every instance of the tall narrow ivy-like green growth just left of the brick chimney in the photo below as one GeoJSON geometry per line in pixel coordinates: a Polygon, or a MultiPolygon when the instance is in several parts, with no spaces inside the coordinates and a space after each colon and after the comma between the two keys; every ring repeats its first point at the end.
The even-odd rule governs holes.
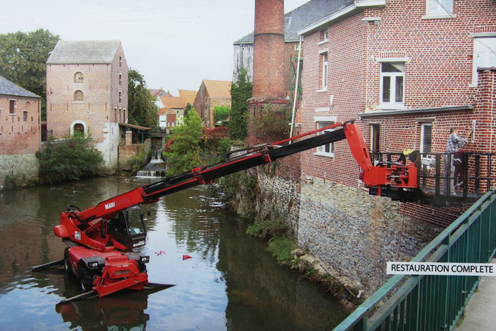
{"type": "Polygon", "coordinates": [[[253,84],[249,82],[248,70],[239,70],[238,81],[231,86],[231,117],[229,130],[231,139],[244,140],[247,138],[248,99],[252,97],[253,84]]]}

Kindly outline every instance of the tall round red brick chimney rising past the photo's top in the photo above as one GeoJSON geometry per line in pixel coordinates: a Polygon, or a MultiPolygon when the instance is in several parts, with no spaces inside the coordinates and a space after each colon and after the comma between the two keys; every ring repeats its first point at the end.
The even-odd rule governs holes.
{"type": "Polygon", "coordinates": [[[284,89],[284,0],[255,0],[253,92],[248,100],[248,145],[261,142],[257,113],[288,105],[284,89]]]}

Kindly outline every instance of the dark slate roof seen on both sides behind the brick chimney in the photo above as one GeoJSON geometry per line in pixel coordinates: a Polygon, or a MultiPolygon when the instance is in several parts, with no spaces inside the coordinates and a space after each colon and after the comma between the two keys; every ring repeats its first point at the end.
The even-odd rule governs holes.
{"type": "MultiPolygon", "coordinates": [[[[299,40],[298,30],[305,28],[315,21],[339,11],[350,0],[312,0],[299,6],[297,9],[284,15],[284,41],[295,42],[299,40]]],[[[253,43],[253,33],[245,35],[243,38],[235,41],[235,44],[253,43]]]]}

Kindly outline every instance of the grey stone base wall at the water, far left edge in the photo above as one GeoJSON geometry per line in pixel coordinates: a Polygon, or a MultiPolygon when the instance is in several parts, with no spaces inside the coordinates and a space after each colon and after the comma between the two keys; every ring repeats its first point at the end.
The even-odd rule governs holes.
{"type": "Polygon", "coordinates": [[[0,155],[0,191],[38,181],[38,159],[32,154],[0,155]]]}

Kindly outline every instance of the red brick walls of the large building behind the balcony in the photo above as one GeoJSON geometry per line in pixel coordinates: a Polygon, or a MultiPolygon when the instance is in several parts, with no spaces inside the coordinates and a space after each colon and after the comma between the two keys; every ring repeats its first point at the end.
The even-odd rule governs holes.
{"type": "MultiPolygon", "coordinates": [[[[473,110],[433,111],[405,115],[364,117],[359,120],[370,146],[370,124],[380,123],[382,152],[418,150],[422,118],[432,121],[432,152],[444,152],[449,128],[458,126],[466,135],[476,120],[475,142],[466,150],[495,152],[495,73],[482,72],[478,87],[472,83],[473,38],[470,33],[496,31],[496,4],[492,0],[454,1],[456,18],[426,19],[425,0],[389,0],[383,9],[366,9],[327,27],[328,41],[317,31],[304,36],[303,128],[317,128],[316,118],[334,116],[337,121],[359,118],[361,113],[381,111],[381,59],[405,60],[407,109],[466,106],[473,110]],[[378,25],[363,18],[376,18],[378,25]],[[321,54],[327,51],[328,87],[322,91],[321,54]],[[333,103],[330,98],[333,97],[333,103]]],[[[302,153],[302,176],[336,181],[356,187],[358,165],[346,142],[334,144],[334,157],[302,153]]],[[[432,219],[434,209],[403,206],[403,213],[432,219]]],[[[463,209],[436,209],[436,219],[446,225],[463,209]]],[[[416,217],[416,216],[417,217],[416,217]]]]}

